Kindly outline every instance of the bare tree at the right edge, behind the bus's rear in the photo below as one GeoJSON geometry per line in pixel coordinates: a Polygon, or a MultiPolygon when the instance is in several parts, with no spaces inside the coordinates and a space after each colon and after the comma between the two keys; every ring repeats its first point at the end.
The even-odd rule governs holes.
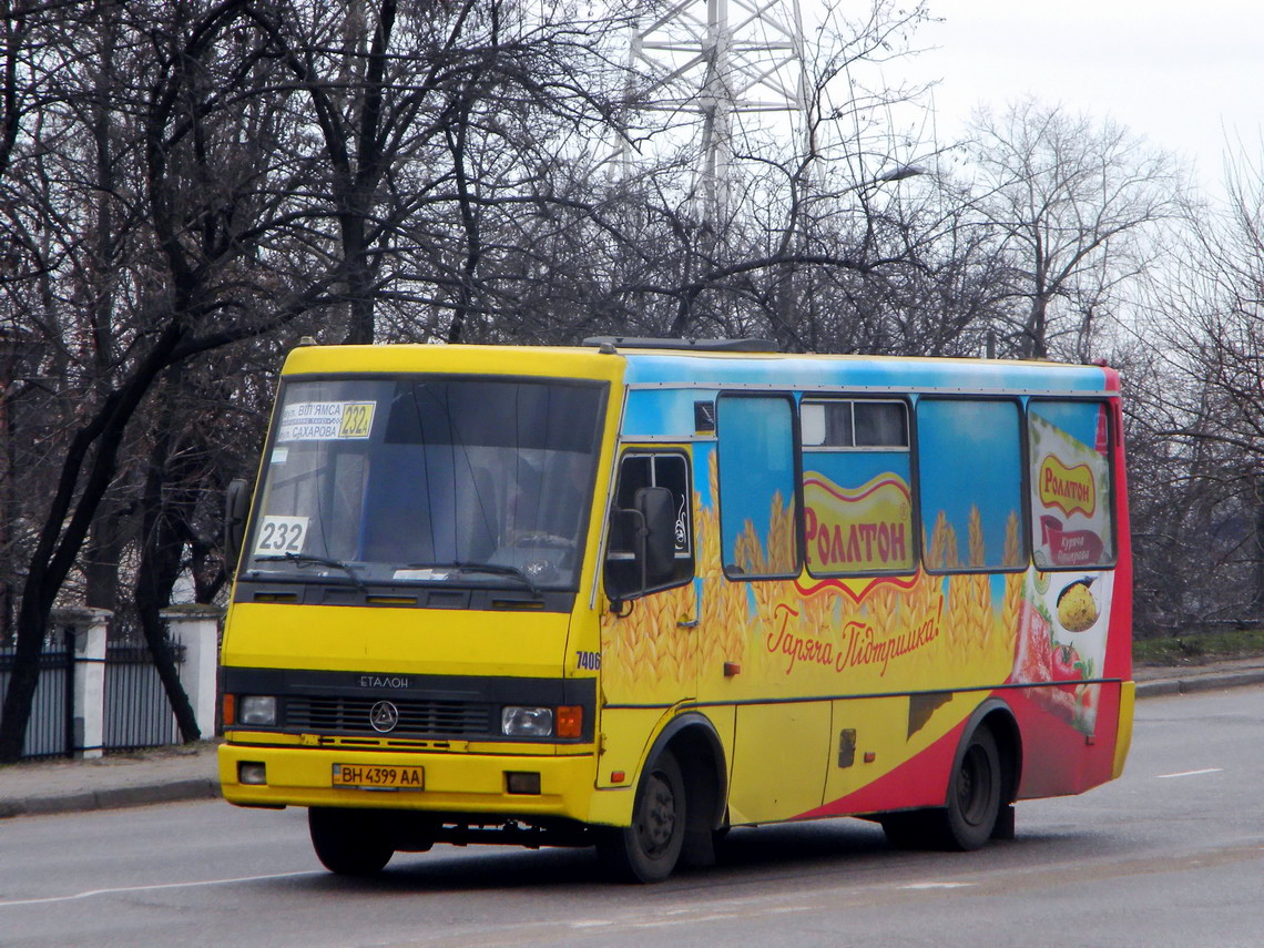
{"type": "Polygon", "coordinates": [[[1131,398],[1157,631],[1264,617],[1264,167],[1230,153],[1226,198],[1189,204],[1172,240],[1131,398]]]}

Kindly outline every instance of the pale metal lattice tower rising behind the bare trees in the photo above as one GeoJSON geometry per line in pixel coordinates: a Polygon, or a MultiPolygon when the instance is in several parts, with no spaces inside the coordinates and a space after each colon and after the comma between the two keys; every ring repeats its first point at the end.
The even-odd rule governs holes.
{"type": "MultiPolygon", "coordinates": [[[[724,216],[734,145],[801,140],[809,105],[799,0],[670,0],[632,33],[631,96],[696,135],[703,215],[724,216]],[[775,118],[774,118],[775,116],[775,118]]],[[[624,149],[624,161],[631,152],[624,149]]]]}

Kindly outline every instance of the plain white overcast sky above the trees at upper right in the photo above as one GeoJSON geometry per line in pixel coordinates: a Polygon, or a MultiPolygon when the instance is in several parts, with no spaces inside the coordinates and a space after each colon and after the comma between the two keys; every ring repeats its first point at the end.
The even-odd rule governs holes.
{"type": "Polygon", "coordinates": [[[1127,125],[1196,164],[1207,185],[1222,178],[1226,137],[1260,163],[1261,0],[932,0],[930,11],[944,21],[918,38],[937,48],[913,72],[942,80],[942,143],[980,102],[1000,107],[1030,92],[1127,125]]]}

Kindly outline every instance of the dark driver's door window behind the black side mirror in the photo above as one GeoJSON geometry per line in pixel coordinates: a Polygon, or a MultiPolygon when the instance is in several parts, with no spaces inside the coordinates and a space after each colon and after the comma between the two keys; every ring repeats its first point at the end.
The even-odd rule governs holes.
{"type": "MultiPolygon", "coordinates": [[[[671,490],[675,509],[674,566],[671,578],[651,583],[651,589],[680,585],[694,575],[693,490],[689,487],[689,461],[683,454],[624,454],[614,488],[614,512],[605,555],[605,588],[612,595],[635,595],[641,589],[641,571],[636,562],[637,518],[619,514],[632,509],[637,490],[665,487],[671,490]]],[[[645,590],[648,592],[648,590],[645,590]]]]}

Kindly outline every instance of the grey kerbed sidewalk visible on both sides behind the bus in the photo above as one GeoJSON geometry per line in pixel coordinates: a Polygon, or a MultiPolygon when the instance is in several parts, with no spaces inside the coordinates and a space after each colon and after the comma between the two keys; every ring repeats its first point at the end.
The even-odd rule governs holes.
{"type": "MultiPolygon", "coordinates": [[[[1187,667],[1138,666],[1138,698],[1264,683],[1264,657],[1187,667]]],[[[0,767],[0,818],[219,796],[215,742],[0,767]]]]}

